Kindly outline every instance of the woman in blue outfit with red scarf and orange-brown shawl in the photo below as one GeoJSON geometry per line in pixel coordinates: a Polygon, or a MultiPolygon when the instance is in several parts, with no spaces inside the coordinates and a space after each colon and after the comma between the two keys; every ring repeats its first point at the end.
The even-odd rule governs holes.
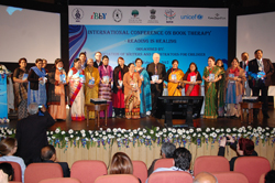
{"type": "Polygon", "coordinates": [[[242,95],[244,92],[245,72],[240,67],[238,58],[233,58],[231,62],[231,67],[226,72],[227,77],[227,97],[226,104],[227,107],[227,117],[237,117],[241,116],[241,106],[239,103],[242,101],[242,95]]]}

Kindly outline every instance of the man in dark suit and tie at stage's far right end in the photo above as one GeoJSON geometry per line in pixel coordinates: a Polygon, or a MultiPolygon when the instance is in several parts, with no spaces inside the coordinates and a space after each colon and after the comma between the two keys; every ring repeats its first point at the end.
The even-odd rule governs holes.
{"type": "MultiPolygon", "coordinates": [[[[274,67],[268,58],[263,58],[263,51],[256,50],[254,52],[255,58],[249,62],[249,84],[252,88],[253,96],[258,96],[260,89],[262,93],[262,103],[263,103],[263,115],[264,118],[270,118],[267,110],[268,110],[268,100],[267,100],[267,93],[268,86],[272,83],[271,76],[274,73],[274,67]],[[265,75],[261,78],[258,77],[258,72],[264,72],[265,75]],[[257,78],[255,78],[257,76],[257,78]]],[[[256,114],[254,114],[256,115],[256,114]]]]}

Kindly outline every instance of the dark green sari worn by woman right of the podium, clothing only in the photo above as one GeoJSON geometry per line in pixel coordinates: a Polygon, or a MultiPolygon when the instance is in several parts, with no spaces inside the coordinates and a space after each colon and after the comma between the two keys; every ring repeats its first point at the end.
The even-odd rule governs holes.
{"type": "MultiPolygon", "coordinates": [[[[205,67],[204,71],[204,76],[208,77],[209,74],[215,74],[215,78],[220,76],[221,74],[224,73],[223,69],[221,69],[218,66],[213,66],[212,69],[210,71],[209,68],[205,67]]],[[[218,101],[217,101],[217,88],[216,88],[216,83],[213,82],[205,82],[205,112],[204,112],[204,118],[217,118],[217,107],[218,107],[218,101]]]]}

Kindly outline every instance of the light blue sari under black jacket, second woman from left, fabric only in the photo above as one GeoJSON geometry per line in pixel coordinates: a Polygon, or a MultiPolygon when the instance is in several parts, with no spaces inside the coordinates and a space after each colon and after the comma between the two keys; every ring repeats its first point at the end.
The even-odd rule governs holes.
{"type": "MultiPolygon", "coordinates": [[[[44,68],[41,68],[41,71],[40,71],[36,66],[33,66],[33,67],[31,67],[31,69],[33,69],[34,73],[38,77],[46,77],[46,71],[44,68]]],[[[41,106],[41,105],[46,106],[46,101],[47,101],[46,85],[45,84],[41,84],[38,82],[38,90],[33,90],[33,89],[30,88],[30,86],[31,86],[31,84],[29,82],[28,106],[31,103],[36,103],[38,106],[41,106]]]]}

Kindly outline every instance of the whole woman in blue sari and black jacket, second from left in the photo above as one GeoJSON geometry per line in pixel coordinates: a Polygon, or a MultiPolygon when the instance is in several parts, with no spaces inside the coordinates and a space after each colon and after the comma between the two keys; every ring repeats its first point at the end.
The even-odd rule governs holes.
{"type": "Polygon", "coordinates": [[[28,106],[31,103],[36,103],[37,105],[46,106],[47,95],[46,95],[46,71],[42,67],[43,61],[37,58],[35,65],[31,67],[28,80],[28,106]]]}

